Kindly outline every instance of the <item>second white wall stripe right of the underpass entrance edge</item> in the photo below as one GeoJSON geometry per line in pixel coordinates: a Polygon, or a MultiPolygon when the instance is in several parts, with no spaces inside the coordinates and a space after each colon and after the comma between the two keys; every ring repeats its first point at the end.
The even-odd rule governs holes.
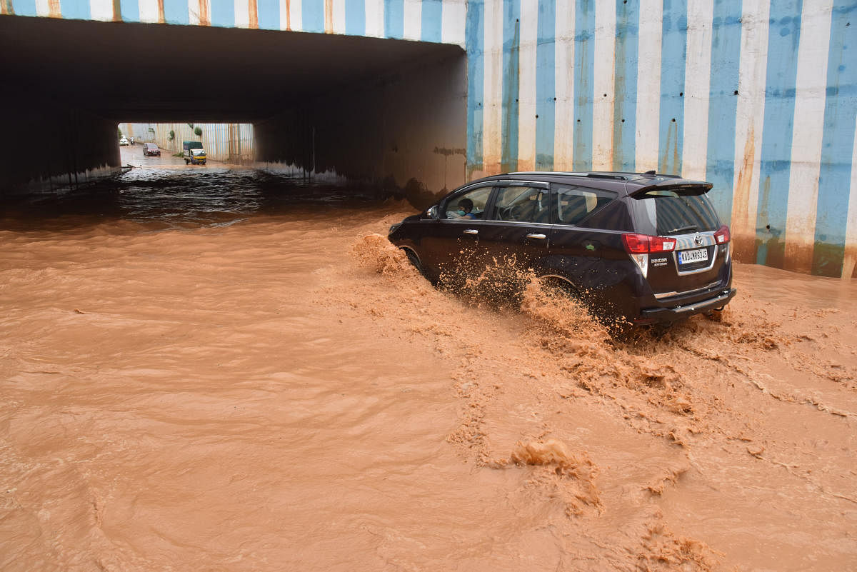
{"type": "MultiPolygon", "coordinates": [[[[521,44],[518,61],[518,166],[536,169],[536,45],[538,0],[521,0],[521,44]]],[[[512,165],[514,167],[514,165],[512,165]]]]}

